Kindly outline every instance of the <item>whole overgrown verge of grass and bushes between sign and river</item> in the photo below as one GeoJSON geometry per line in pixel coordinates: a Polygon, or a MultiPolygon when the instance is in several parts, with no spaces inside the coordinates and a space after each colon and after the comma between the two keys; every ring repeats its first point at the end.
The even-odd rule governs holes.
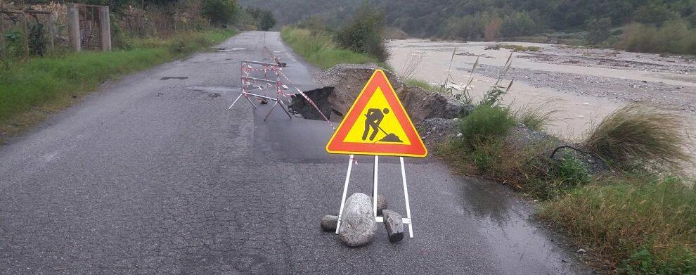
{"type": "Polygon", "coordinates": [[[577,145],[586,152],[560,151],[552,157],[562,140],[529,141],[524,132],[517,136],[514,126],[527,122],[543,129],[545,114],[538,107],[511,113],[479,105],[460,120],[463,135],[435,152],[463,174],[494,179],[541,200],[538,217],[584,248],[595,268],[695,274],[696,187],[680,172],[685,153],[675,122],[682,120],[627,105],[577,145]],[[588,155],[599,155],[615,172],[592,170],[588,155]]]}

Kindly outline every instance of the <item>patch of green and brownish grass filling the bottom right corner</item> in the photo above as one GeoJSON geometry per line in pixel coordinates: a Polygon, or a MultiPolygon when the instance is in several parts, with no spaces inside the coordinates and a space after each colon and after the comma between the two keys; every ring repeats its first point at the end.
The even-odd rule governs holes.
{"type": "Polygon", "coordinates": [[[602,179],[544,203],[539,217],[619,271],[694,274],[696,190],[688,185],[650,175],[602,179]]]}

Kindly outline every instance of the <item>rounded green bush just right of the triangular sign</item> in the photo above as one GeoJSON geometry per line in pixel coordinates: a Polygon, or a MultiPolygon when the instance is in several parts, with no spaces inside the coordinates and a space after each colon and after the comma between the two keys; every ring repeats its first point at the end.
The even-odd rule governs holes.
{"type": "Polygon", "coordinates": [[[478,105],[459,124],[469,148],[474,148],[477,143],[496,141],[508,134],[513,126],[515,119],[508,108],[491,105],[478,105]]]}

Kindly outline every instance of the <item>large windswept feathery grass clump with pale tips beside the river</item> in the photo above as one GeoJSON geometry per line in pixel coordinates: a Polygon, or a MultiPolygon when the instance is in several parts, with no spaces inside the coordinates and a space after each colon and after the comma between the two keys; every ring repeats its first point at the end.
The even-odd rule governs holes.
{"type": "Polygon", "coordinates": [[[640,104],[629,104],[605,117],[589,132],[584,148],[623,170],[681,170],[690,160],[679,133],[678,115],[640,104]]]}

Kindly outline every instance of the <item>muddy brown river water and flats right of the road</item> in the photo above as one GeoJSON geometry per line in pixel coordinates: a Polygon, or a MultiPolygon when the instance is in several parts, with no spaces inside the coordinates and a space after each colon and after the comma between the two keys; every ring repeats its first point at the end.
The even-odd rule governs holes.
{"type": "MultiPolygon", "coordinates": [[[[454,82],[467,81],[475,60],[472,96],[479,101],[510,55],[508,49],[486,49],[494,42],[404,39],[389,41],[389,64],[397,75],[411,74],[432,84],[444,82],[451,65],[454,82]],[[418,61],[420,60],[420,62],[418,61]]],[[[683,133],[696,153],[696,62],[681,56],[627,53],[612,49],[576,49],[555,44],[505,42],[538,46],[537,52],[514,52],[504,84],[515,79],[503,103],[511,108],[553,101],[550,134],[578,140],[595,122],[629,102],[640,101],[683,117],[683,133]]]]}

